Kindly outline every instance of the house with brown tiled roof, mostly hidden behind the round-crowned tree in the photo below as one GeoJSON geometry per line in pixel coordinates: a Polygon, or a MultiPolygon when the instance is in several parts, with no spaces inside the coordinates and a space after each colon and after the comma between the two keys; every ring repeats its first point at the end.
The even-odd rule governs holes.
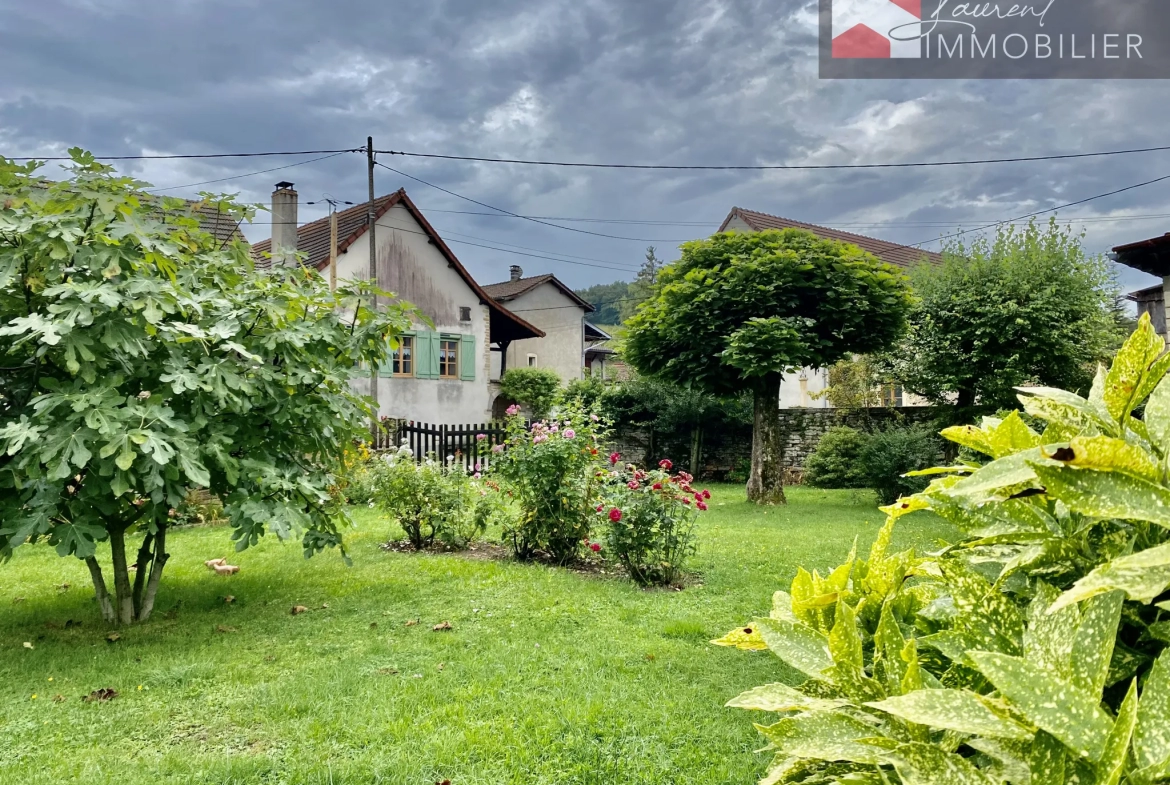
{"type": "MultiPolygon", "coordinates": [[[[895,267],[909,268],[922,262],[937,264],[942,255],[931,250],[922,250],[902,246],[887,240],[878,240],[862,234],[831,229],[815,223],[793,221],[778,215],[757,213],[742,207],[732,207],[723,219],[720,232],[763,232],[764,229],[804,229],[826,240],[838,240],[868,250],[878,259],[895,267]]],[[[831,408],[827,399],[818,397],[828,387],[828,369],[800,369],[796,373],[784,374],[780,383],[780,408],[831,408]]],[[[892,385],[881,391],[882,401],[887,406],[924,406],[927,401],[903,392],[901,386],[892,385]]]]}

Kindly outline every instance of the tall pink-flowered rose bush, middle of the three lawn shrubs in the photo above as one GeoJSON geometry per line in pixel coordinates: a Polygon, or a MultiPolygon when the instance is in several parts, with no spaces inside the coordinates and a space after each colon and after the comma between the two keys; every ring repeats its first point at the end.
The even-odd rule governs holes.
{"type": "Polygon", "coordinates": [[[514,406],[507,427],[507,442],[494,448],[502,454],[491,461],[518,508],[504,526],[504,540],[519,559],[544,552],[558,564],[576,560],[592,531],[606,476],[597,446],[604,425],[596,414],[569,406],[529,431],[514,406]]]}

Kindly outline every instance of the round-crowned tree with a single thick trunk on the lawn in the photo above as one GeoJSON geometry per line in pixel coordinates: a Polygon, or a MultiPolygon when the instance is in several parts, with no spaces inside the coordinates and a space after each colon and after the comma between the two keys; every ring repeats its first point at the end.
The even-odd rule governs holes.
{"type": "Polygon", "coordinates": [[[627,322],[639,372],[718,395],[751,391],[748,496],[784,502],[780,380],[889,346],[910,294],[901,270],[798,229],[724,233],[682,246],[627,322]]]}

